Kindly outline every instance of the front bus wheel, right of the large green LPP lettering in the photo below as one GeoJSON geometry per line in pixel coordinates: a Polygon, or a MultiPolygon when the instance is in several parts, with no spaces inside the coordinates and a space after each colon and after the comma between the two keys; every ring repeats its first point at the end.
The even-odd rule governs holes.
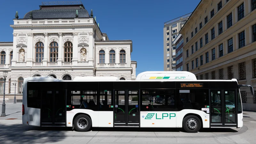
{"type": "Polygon", "coordinates": [[[201,129],[201,121],[197,116],[186,116],[182,123],[186,132],[198,132],[201,129]]]}

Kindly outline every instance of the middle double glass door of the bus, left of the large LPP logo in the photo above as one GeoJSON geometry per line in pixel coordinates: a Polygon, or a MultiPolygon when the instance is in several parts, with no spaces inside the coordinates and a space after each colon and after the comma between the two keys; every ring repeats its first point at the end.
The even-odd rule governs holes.
{"type": "Polygon", "coordinates": [[[116,90],[114,99],[114,127],[139,127],[139,91],[116,90]]]}

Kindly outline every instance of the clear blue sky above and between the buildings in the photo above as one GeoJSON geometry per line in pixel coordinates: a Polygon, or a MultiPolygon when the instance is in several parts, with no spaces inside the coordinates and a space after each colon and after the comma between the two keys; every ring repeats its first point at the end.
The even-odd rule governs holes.
{"type": "MultiPolygon", "coordinates": [[[[38,10],[42,1],[49,0],[1,1],[0,41],[13,40],[10,25],[13,24],[16,11],[23,18],[27,12],[38,10]]],[[[193,12],[199,2],[200,0],[82,0],[89,13],[93,10],[101,32],[107,33],[110,40],[133,41],[131,55],[132,60],[137,61],[136,75],[142,71],[164,70],[164,22],[193,12]]]]}

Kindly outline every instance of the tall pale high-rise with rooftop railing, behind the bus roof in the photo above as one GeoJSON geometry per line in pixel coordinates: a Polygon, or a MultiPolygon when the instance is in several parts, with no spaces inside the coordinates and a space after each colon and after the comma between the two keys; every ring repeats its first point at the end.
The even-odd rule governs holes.
{"type": "Polygon", "coordinates": [[[191,13],[188,13],[164,23],[164,71],[176,70],[176,47],[173,41],[190,15],[191,13]]]}

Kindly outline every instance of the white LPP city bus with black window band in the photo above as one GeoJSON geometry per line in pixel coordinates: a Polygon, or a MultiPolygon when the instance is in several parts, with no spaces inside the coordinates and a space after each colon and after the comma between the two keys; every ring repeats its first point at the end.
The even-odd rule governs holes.
{"type": "Polygon", "coordinates": [[[196,80],[186,71],[143,72],[136,80],[29,77],[23,84],[22,123],[34,126],[239,128],[243,111],[232,80],[196,80]]]}

